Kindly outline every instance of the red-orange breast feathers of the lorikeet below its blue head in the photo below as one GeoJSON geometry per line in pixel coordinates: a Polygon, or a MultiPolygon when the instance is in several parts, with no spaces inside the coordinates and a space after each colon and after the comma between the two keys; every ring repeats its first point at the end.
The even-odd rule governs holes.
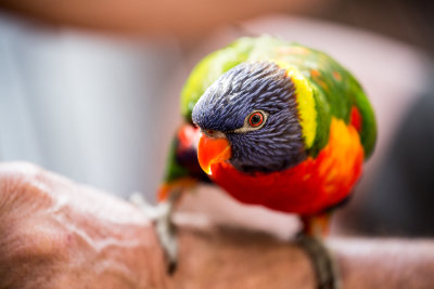
{"type": "Polygon", "coordinates": [[[357,130],[332,119],[328,145],[316,158],[273,173],[245,174],[229,162],[213,165],[212,180],[235,199],[273,210],[312,214],[343,200],[361,174],[357,130]]]}

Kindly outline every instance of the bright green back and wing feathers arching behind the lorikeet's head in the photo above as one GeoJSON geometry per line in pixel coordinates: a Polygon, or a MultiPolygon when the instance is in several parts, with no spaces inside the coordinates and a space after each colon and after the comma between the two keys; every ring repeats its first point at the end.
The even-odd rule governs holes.
{"type": "Polygon", "coordinates": [[[350,120],[356,107],[361,115],[360,140],[368,158],[374,147],[376,124],[372,107],[358,81],[326,53],[289,43],[270,36],[241,38],[228,47],[210,53],[191,73],[181,93],[181,111],[186,121],[199,97],[224,73],[242,62],[282,61],[297,67],[309,80],[317,109],[317,133],[309,153],[316,156],[329,140],[332,117],[350,120]]]}

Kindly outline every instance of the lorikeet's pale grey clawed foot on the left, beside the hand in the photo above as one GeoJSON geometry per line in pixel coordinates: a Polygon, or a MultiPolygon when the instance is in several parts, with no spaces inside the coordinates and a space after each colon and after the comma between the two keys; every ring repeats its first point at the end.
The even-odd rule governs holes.
{"type": "Polygon", "coordinates": [[[140,193],[133,193],[130,196],[130,201],[154,222],[156,235],[166,255],[167,272],[170,275],[175,273],[178,263],[178,241],[171,214],[179,195],[180,193],[173,193],[167,200],[156,206],[150,205],[140,193]]]}

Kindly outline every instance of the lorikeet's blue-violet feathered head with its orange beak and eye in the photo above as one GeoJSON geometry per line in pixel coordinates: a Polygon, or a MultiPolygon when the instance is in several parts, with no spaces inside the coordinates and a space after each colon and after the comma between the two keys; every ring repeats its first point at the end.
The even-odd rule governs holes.
{"type": "Polygon", "coordinates": [[[202,169],[230,161],[238,170],[272,172],[302,161],[306,154],[294,83],[272,62],[242,63],[221,75],[192,113],[201,128],[202,169]]]}

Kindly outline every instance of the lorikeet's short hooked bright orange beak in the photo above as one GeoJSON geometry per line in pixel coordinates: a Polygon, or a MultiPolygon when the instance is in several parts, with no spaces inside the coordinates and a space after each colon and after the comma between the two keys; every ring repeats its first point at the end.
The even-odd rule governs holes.
{"type": "Polygon", "coordinates": [[[201,133],[197,145],[197,158],[202,170],[212,174],[210,166],[231,158],[231,147],[228,140],[213,139],[201,133]]]}

